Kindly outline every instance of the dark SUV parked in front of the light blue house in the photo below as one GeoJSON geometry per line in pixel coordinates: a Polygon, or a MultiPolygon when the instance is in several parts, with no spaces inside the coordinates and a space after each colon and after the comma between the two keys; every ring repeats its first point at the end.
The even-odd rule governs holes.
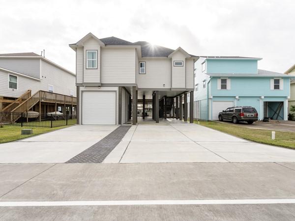
{"type": "Polygon", "coordinates": [[[232,107],[220,112],[218,119],[219,121],[230,120],[235,124],[239,121],[247,121],[248,124],[253,124],[258,120],[258,113],[251,106],[232,107]]]}

